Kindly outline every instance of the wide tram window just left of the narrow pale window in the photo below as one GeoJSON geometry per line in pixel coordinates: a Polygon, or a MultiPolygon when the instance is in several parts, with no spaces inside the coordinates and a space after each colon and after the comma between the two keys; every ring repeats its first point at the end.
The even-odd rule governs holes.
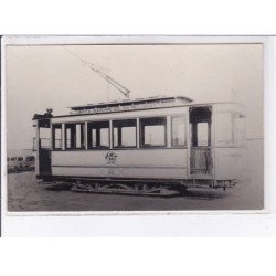
{"type": "Polygon", "coordinates": [[[141,147],[166,147],[166,117],[140,119],[140,146],[141,147]]]}

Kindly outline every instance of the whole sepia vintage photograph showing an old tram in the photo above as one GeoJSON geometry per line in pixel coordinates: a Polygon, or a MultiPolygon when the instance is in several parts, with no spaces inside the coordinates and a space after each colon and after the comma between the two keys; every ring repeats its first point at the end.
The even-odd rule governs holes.
{"type": "Polygon", "coordinates": [[[263,52],[8,43],[8,211],[263,210],[263,52]]]}

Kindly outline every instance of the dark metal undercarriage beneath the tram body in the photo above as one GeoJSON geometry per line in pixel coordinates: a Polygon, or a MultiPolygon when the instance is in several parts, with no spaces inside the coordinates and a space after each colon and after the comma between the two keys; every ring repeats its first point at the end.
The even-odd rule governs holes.
{"type": "Polygon", "coordinates": [[[236,180],[180,180],[180,181],[146,181],[146,180],[103,180],[103,179],[67,179],[46,182],[47,190],[71,190],[73,192],[107,193],[148,197],[184,195],[189,188],[232,188],[236,180]]]}

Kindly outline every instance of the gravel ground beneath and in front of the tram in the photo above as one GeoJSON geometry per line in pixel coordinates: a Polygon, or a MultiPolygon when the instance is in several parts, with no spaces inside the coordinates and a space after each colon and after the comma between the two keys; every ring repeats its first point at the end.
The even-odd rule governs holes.
{"type": "MultiPolygon", "coordinates": [[[[248,160],[256,160],[259,145],[252,145],[248,160]],[[254,147],[253,147],[254,146],[254,147]],[[251,153],[252,152],[252,153],[251,153]]],[[[259,157],[262,157],[259,151],[259,157]]],[[[49,191],[34,172],[8,176],[9,211],[168,211],[168,210],[261,210],[264,205],[263,158],[247,167],[247,181],[232,189],[191,189],[185,195],[152,198],[118,194],[49,191]]]]}

